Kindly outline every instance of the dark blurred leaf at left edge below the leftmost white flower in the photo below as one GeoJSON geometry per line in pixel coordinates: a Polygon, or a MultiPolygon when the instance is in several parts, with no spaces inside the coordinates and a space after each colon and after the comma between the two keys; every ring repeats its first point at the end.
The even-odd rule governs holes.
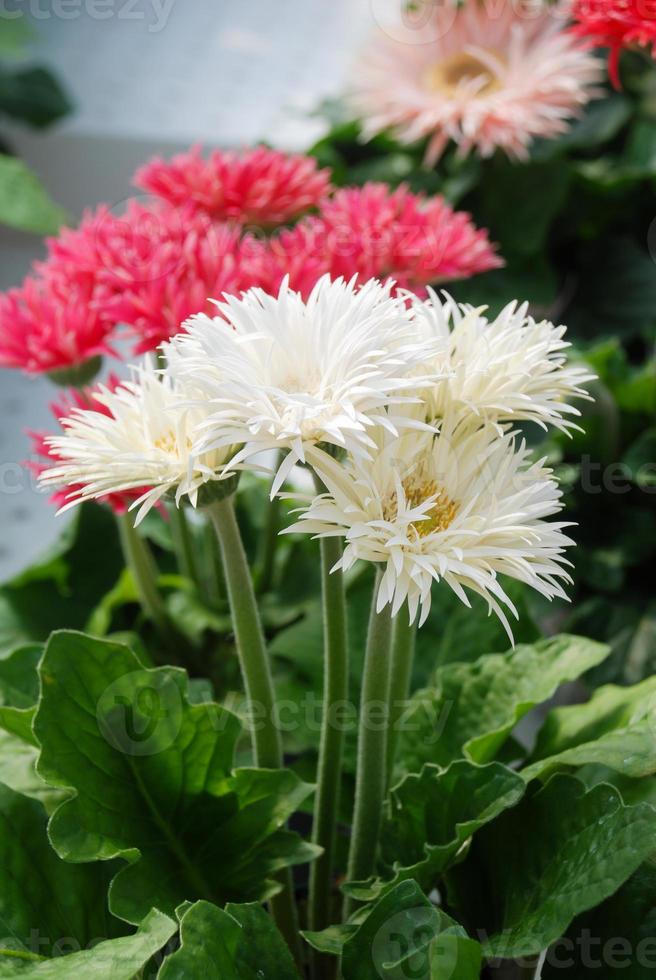
{"type": "Polygon", "coordinates": [[[83,629],[123,564],[109,509],[80,507],[53,548],[0,587],[0,656],[55,629],[83,629]]]}

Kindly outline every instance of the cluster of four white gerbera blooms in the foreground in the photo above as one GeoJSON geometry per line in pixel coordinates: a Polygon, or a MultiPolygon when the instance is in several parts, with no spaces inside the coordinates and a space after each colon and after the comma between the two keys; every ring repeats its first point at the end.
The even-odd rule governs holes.
{"type": "Polygon", "coordinates": [[[309,298],[283,283],[192,317],[102,410],[76,410],[50,440],[44,484],[70,503],[146,487],[139,517],[163,495],[196,506],[263,450],[282,450],[272,494],[311,466],[325,492],[287,530],[340,536],[340,565],[382,571],[378,607],[407,602],[423,621],[444,580],[483,595],[508,628],[499,575],[563,596],[560,491],[532,460],[520,421],[567,429],[592,375],[567,363],[564,327],[509,305],[484,310],[377,281],[321,279],[309,298]]]}

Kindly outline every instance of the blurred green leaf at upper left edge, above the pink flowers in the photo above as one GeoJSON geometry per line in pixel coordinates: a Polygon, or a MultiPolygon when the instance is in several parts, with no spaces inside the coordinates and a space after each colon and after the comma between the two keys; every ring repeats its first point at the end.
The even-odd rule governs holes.
{"type": "Polygon", "coordinates": [[[52,235],[65,221],[64,209],[48,197],[22,160],[0,154],[0,224],[52,235]]]}

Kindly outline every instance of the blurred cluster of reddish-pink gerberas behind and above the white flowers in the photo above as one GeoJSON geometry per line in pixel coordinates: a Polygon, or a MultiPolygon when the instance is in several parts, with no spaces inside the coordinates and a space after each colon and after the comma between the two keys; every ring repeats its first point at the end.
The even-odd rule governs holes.
{"type": "Polygon", "coordinates": [[[212,299],[273,292],[285,275],[303,294],[326,272],[421,291],[501,264],[487,233],[442,198],[383,184],[335,190],[310,157],[259,147],[204,160],[192,149],[135,179],[154,200],[86,214],[0,297],[0,365],[75,367],[112,353],[120,329],[136,352],[153,350],[212,299]]]}

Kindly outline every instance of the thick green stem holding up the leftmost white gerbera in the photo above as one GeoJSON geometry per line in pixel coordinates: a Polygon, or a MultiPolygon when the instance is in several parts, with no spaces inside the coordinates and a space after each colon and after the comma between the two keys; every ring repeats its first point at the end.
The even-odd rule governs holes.
{"type": "MultiPolygon", "coordinates": [[[[216,501],[207,511],[221,546],[246,697],[251,709],[257,707],[260,718],[252,731],[254,762],[265,769],[280,769],[283,765],[282,742],[275,724],[273,679],[232,497],[216,501]]],[[[300,965],[302,952],[291,872],[286,872],[281,880],[283,890],[271,899],[271,912],[300,965]]]]}

